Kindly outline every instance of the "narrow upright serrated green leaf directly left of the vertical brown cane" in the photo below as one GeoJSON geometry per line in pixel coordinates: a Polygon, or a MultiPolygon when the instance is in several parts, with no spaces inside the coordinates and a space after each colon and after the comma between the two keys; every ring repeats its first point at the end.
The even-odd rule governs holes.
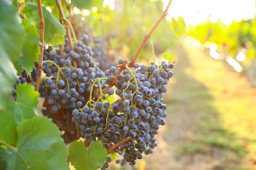
{"type": "MultiPolygon", "coordinates": [[[[23,56],[18,60],[18,62],[30,75],[30,71],[32,71],[33,67],[35,67],[34,62],[38,61],[38,55],[40,54],[39,45],[41,45],[41,41],[37,29],[31,25],[30,22],[23,19],[22,24],[26,32],[26,39],[22,48],[23,56]]],[[[20,69],[21,68],[22,67],[20,67],[20,69]]],[[[20,75],[21,72],[22,69],[18,70],[18,75],[20,75]]]]}

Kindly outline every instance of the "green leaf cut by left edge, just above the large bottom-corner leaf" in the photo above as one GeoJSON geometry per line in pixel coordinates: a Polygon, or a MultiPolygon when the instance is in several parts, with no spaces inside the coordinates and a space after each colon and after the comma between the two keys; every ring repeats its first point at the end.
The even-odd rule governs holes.
{"type": "MultiPolygon", "coordinates": [[[[11,100],[11,97],[9,100],[11,100]]],[[[0,111],[0,140],[9,144],[16,144],[17,141],[14,116],[11,112],[4,112],[3,110],[0,111]]]]}

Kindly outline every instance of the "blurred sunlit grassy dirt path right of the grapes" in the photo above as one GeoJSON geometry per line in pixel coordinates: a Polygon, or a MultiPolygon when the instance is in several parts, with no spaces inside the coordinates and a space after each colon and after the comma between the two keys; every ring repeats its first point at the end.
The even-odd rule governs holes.
{"type": "MultiPolygon", "coordinates": [[[[255,90],[247,88],[244,77],[186,42],[175,56],[175,77],[169,83],[170,95],[164,97],[168,105],[167,126],[161,127],[158,147],[144,158],[145,166],[142,162],[137,169],[254,169],[244,160],[246,150],[237,142],[236,134],[224,127],[219,118],[221,110],[214,103],[216,96],[222,97],[228,112],[231,108],[225,105],[227,96],[239,93],[237,98],[244,99],[249,94],[254,95],[255,101],[255,90]],[[237,145],[233,146],[233,141],[237,145]]],[[[251,111],[256,114],[255,107],[251,111]]],[[[252,124],[255,127],[255,122],[252,124]]]]}

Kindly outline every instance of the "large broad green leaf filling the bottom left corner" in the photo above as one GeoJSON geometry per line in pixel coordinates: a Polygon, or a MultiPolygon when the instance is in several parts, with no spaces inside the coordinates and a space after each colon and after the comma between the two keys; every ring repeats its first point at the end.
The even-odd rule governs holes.
{"type": "Polygon", "coordinates": [[[5,162],[6,169],[68,169],[66,144],[52,120],[34,117],[16,129],[16,146],[0,150],[0,162],[5,162]]]}

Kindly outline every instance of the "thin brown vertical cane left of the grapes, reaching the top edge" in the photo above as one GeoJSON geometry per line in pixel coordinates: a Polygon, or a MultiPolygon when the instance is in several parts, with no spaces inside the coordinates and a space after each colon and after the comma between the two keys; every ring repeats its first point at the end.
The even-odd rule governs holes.
{"type": "Polygon", "coordinates": [[[40,80],[41,80],[41,73],[43,69],[43,41],[45,37],[45,22],[43,20],[43,9],[41,5],[41,0],[37,0],[37,6],[39,11],[39,27],[40,27],[40,56],[39,56],[39,62],[38,62],[38,68],[37,68],[37,81],[35,83],[35,91],[39,90],[40,86],[40,80]]]}

